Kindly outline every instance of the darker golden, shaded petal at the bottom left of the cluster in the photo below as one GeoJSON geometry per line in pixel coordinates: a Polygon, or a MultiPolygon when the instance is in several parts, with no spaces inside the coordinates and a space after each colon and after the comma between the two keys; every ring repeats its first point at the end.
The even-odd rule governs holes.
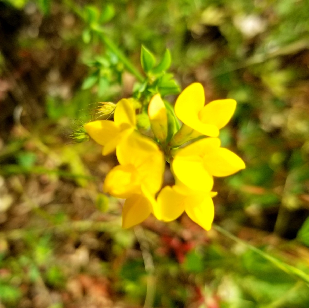
{"type": "Polygon", "coordinates": [[[148,199],[141,194],[136,194],[125,200],[122,209],[122,227],[130,228],[140,224],[151,213],[151,205],[148,199]]]}

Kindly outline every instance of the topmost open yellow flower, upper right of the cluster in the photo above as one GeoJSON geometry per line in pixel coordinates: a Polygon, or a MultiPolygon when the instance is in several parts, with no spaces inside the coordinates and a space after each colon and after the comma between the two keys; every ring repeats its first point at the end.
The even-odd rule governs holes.
{"type": "Polygon", "coordinates": [[[193,83],[180,93],[174,109],[185,125],[203,135],[218,137],[219,129],[230,121],[235,112],[236,101],[225,99],[204,105],[204,88],[200,83],[193,83]]]}

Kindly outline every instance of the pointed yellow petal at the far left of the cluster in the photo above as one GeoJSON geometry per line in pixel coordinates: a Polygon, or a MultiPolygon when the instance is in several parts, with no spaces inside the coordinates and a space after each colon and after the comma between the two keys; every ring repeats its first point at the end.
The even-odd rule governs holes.
{"type": "Polygon", "coordinates": [[[84,125],[90,137],[101,146],[105,146],[120,133],[120,128],[108,120],[92,121],[84,125]]]}

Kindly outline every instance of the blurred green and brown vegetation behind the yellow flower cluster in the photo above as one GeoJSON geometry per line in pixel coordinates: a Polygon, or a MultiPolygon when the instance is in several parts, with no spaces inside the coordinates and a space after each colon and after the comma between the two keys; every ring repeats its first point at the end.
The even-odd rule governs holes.
{"type": "Polygon", "coordinates": [[[308,16],[308,0],[1,0],[0,307],[309,307],[308,16]],[[70,139],[145,90],[142,44],[171,51],[180,88],[238,102],[220,138],[247,168],[217,179],[210,232],[185,215],[121,229],[102,194],[115,155],[70,139]]]}

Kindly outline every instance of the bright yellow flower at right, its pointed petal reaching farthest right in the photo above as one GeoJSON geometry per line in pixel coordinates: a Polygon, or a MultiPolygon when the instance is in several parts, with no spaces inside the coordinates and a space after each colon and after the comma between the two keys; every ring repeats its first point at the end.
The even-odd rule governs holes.
{"type": "Polygon", "coordinates": [[[193,190],[210,191],[213,176],[228,176],[245,168],[241,158],[220,145],[218,138],[204,138],[178,150],[172,162],[176,177],[193,190]]]}

